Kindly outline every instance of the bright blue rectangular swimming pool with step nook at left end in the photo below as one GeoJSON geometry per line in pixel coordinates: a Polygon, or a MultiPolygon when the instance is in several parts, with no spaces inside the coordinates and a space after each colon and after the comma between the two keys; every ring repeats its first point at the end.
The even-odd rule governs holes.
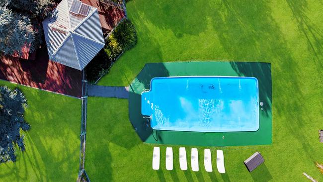
{"type": "Polygon", "coordinates": [[[259,129],[258,80],[253,77],[154,78],[141,99],[141,112],[156,130],[259,129]]]}

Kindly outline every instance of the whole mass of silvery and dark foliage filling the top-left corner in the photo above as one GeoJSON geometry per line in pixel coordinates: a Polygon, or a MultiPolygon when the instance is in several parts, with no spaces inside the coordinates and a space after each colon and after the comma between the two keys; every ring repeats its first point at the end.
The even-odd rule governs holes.
{"type": "Polygon", "coordinates": [[[0,51],[12,55],[24,44],[30,52],[42,43],[41,22],[50,15],[53,0],[0,0],[0,51]]]}

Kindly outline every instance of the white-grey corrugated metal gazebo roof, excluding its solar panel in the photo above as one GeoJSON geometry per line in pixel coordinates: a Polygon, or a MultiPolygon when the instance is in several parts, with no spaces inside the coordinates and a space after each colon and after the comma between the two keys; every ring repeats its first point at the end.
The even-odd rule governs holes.
{"type": "Polygon", "coordinates": [[[73,0],[62,0],[43,21],[49,58],[82,70],[104,46],[97,8],[87,16],[70,12],[73,0]]]}

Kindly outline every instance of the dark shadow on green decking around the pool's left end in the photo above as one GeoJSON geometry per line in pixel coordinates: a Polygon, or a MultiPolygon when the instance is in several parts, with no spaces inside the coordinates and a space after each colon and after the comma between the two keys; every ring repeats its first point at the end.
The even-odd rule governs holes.
{"type": "Polygon", "coordinates": [[[146,64],[129,87],[129,119],[142,141],[152,135],[156,141],[161,141],[158,131],[150,126],[150,120],[141,114],[141,93],[150,89],[150,82],[155,77],[168,77],[169,73],[163,63],[146,64]]]}

